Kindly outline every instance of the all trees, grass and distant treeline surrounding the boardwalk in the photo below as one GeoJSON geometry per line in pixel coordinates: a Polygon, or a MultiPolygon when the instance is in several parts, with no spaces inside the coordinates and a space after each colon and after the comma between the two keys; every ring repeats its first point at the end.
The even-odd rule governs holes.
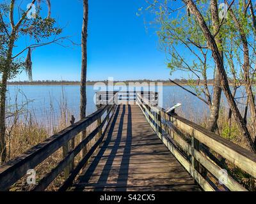
{"type": "MultiPolygon", "coordinates": [[[[26,108],[30,101],[21,105],[9,105],[6,101],[8,85],[80,85],[80,119],[86,117],[86,85],[94,85],[86,79],[87,72],[87,34],[88,34],[88,0],[83,0],[83,27],[82,27],[82,66],[81,82],[68,82],[65,80],[32,80],[31,52],[38,47],[56,43],[65,38],[58,38],[62,29],[51,18],[51,3],[48,4],[48,16],[40,17],[40,1],[31,0],[28,10],[15,8],[15,0],[10,4],[0,4],[0,154],[1,164],[13,159],[25,150],[44,141],[52,133],[56,133],[70,124],[72,113],[67,108],[65,100],[61,101],[58,123],[47,126],[40,124],[33,117],[33,113],[26,108]],[[32,18],[28,15],[33,6],[37,6],[32,18]],[[21,13],[20,19],[15,23],[15,11],[21,13]],[[31,45],[16,52],[15,45],[22,37],[29,36],[31,45]],[[51,39],[52,40],[49,40],[51,39]],[[45,41],[46,40],[46,41],[45,41]],[[15,52],[14,52],[15,50],[15,52]],[[27,53],[24,59],[24,52],[27,53]],[[19,75],[20,71],[28,73],[27,82],[13,82],[12,79],[19,75]],[[7,104],[7,105],[6,105],[7,104]],[[19,148],[17,148],[19,147],[19,148]]],[[[147,1],[148,2],[148,1],[147,1]]],[[[222,10],[217,0],[193,1],[183,0],[182,6],[172,0],[154,0],[149,3],[147,10],[152,11],[156,17],[159,31],[159,44],[168,56],[168,68],[170,74],[175,71],[188,73],[188,79],[170,80],[130,80],[129,82],[163,82],[163,85],[174,84],[193,94],[208,107],[207,113],[200,113],[200,121],[195,121],[195,113],[179,113],[197,122],[205,129],[226,138],[241,147],[256,153],[256,5],[252,0],[225,1],[225,9],[222,10]],[[221,15],[220,15],[221,14],[221,15]],[[184,52],[186,50],[186,52],[184,52]],[[186,55],[184,54],[186,53],[186,55]],[[188,55],[189,53],[189,55],[188,55]],[[212,89],[210,88],[212,86],[212,89]],[[189,88],[188,88],[189,86],[189,88]],[[246,99],[244,106],[237,97],[239,87],[244,87],[246,99]],[[228,108],[221,106],[221,92],[227,99],[228,108]],[[205,115],[205,117],[202,117],[205,115]]],[[[108,84],[108,81],[102,81],[108,84]]],[[[120,85],[121,82],[114,82],[120,85]]],[[[49,114],[51,117],[52,114],[49,114]]],[[[73,121],[74,122],[74,121],[73,121]]],[[[98,121],[99,122],[99,121],[98,121]]],[[[94,124],[93,124],[94,125],[94,124]]],[[[76,143],[84,141],[90,133],[84,129],[76,143]]],[[[100,135],[100,133],[99,133],[100,135]]],[[[67,144],[68,145],[68,144],[67,144]]],[[[204,145],[202,145],[204,146],[204,145]]],[[[194,148],[194,147],[193,147],[194,148]]],[[[68,148],[67,148],[68,149],[68,148]]],[[[63,157],[64,150],[57,150],[51,157],[36,167],[38,179],[42,179],[45,173],[63,157]]],[[[68,150],[67,150],[68,152],[68,150]]],[[[87,153],[84,147],[80,161],[87,153]]],[[[256,189],[255,178],[240,170],[233,164],[220,157],[216,152],[211,152],[205,147],[205,154],[212,155],[220,161],[220,166],[228,169],[228,173],[250,190],[256,189]]],[[[219,163],[218,163],[219,164],[219,163]]],[[[202,168],[198,171],[204,177],[207,172],[202,168]]],[[[49,190],[54,190],[63,181],[63,173],[52,182],[49,190]]],[[[11,190],[28,190],[24,186],[24,179],[20,180],[11,190]]]]}

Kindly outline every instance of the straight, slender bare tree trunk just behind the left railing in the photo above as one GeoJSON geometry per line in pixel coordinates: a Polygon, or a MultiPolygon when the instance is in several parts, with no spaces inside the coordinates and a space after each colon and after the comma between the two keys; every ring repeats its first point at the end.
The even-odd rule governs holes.
{"type": "MultiPolygon", "coordinates": [[[[82,68],[81,68],[81,87],[80,87],[80,119],[86,117],[86,72],[87,72],[87,27],[88,27],[88,0],[83,0],[83,27],[82,27],[82,68]]],[[[86,138],[86,130],[81,133],[81,140],[86,138]]],[[[81,156],[84,157],[87,148],[84,147],[81,156]]]]}

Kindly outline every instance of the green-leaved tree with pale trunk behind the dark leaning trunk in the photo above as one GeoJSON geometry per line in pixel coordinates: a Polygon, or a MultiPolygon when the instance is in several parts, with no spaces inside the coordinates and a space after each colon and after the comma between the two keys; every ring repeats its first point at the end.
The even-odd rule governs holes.
{"type": "MultiPolygon", "coordinates": [[[[170,68],[171,73],[177,70],[189,73],[190,89],[182,87],[173,80],[171,82],[190,92],[209,106],[210,115],[206,122],[206,128],[218,133],[217,122],[221,99],[220,73],[218,69],[211,66],[211,53],[207,50],[207,41],[196,18],[189,14],[184,15],[182,12],[177,13],[177,10],[172,10],[169,3],[170,1],[163,1],[163,3],[161,1],[158,6],[157,1],[154,1],[153,8],[159,7],[159,11],[154,11],[157,14],[157,22],[161,25],[158,36],[163,50],[170,56],[168,68],[170,68]],[[210,69],[214,69],[215,73],[212,94],[209,91],[207,81],[210,69]],[[197,81],[194,80],[195,78],[197,81]]],[[[211,0],[211,10],[205,13],[207,24],[212,24],[211,29],[216,29],[219,24],[219,19],[215,17],[215,13],[218,13],[217,3],[215,0],[211,0]]],[[[215,38],[221,47],[220,34],[216,35],[215,38]]]]}

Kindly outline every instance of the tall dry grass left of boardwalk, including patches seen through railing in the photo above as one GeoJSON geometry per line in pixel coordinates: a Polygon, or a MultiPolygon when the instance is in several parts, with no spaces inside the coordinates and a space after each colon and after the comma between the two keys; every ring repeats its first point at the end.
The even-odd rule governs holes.
{"type": "MultiPolygon", "coordinates": [[[[54,107],[54,97],[49,94],[49,107],[42,108],[40,119],[38,120],[38,112],[31,106],[33,101],[29,101],[24,93],[17,89],[14,99],[8,97],[7,114],[6,114],[6,144],[8,152],[8,160],[13,159],[26,150],[34,147],[38,143],[44,142],[49,136],[58,133],[62,129],[70,126],[72,110],[68,108],[65,90],[62,89],[61,98],[58,100],[58,108],[54,107]],[[20,94],[25,100],[19,103],[20,94]],[[37,116],[37,117],[36,117],[37,116]]],[[[90,134],[95,124],[88,127],[87,133],[90,134]]],[[[75,138],[75,145],[79,143],[79,135],[75,138]]],[[[56,164],[63,159],[62,148],[58,149],[54,154],[45,159],[45,161],[36,166],[36,181],[42,179],[46,173],[49,173],[56,164]]],[[[80,161],[80,155],[75,158],[75,166],[80,161]]],[[[20,179],[12,186],[10,191],[28,191],[34,186],[26,184],[26,176],[20,179]]],[[[57,177],[54,182],[47,188],[48,191],[55,191],[63,182],[63,173],[57,177]]]]}

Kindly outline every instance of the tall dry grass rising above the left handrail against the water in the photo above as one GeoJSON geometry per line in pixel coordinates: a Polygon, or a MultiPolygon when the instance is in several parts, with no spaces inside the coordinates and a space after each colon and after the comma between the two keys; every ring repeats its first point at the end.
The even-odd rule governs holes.
{"type": "Polygon", "coordinates": [[[36,114],[38,113],[35,113],[35,108],[31,106],[33,101],[25,96],[25,101],[19,104],[17,98],[20,97],[20,94],[25,96],[20,89],[17,89],[15,99],[8,98],[7,115],[9,116],[6,117],[8,159],[19,156],[25,150],[70,126],[68,120],[71,118],[72,110],[67,106],[64,90],[61,93],[58,110],[53,108],[54,98],[49,96],[49,106],[51,108],[42,111],[40,120],[37,118],[38,115],[36,114]]]}

